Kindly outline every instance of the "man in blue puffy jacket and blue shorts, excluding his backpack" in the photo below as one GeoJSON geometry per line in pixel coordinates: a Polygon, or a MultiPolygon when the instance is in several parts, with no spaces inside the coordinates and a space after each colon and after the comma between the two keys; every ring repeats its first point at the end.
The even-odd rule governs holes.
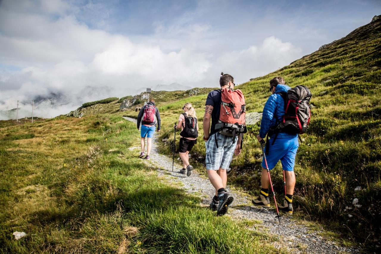
{"type": "MultiPolygon", "coordinates": [[[[261,129],[257,139],[261,142],[266,134],[270,135],[270,141],[268,144],[268,154],[266,153],[267,165],[269,169],[273,169],[275,165],[280,162],[285,172],[286,177],[286,196],[282,204],[278,206],[280,211],[292,214],[292,196],[295,187],[295,156],[298,151],[299,142],[298,135],[291,135],[284,132],[279,132],[275,138],[275,133],[271,133],[271,130],[277,127],[280,121],[283,120],[285,114],[285,101],[279,93],[287,92],[290,89],[285,85],[285,80],[282,77],[275,77],[270,81],[270,91],[272,95],[267,100],[263,108],[261,129]],[[270,131],[270,133],[269,133],[270,131]],[[275,142],[273,144],[273,138],[275,142]]],[[[269,208],[269,184],[270,180],[267,175],[264,160],[262,160],[262,175],[261,175],[261,191],[257,199],[253,199],[252,202],[256,206],[262,206],[269,208]]]]}

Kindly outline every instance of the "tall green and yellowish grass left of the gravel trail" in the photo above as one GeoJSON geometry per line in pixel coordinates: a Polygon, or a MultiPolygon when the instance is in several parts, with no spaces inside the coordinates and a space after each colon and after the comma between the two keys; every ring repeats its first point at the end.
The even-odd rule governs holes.
{"type": "Polygon", "coordinates": [[[128,149],[139,134],[119,116],[7,126],[1,135],[26,130],[35,137],[0,143],[2,252],[281,252],[158,178],[128,149]],[[15,241],[13,231],[27,236],[15,241]]]}

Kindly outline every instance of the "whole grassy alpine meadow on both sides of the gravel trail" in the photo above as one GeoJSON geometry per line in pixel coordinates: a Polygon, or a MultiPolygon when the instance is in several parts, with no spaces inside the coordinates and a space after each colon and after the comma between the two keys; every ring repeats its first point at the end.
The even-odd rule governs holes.
{"type": "MultiPolygon", "coordinates": [[[[235,87],[245,95],[247,114],[262,112],[273,77],[311,90],[311,122],[296,156],[292,220],[363,252],[381,246],[380,52],[381,15],[288,66],[235,87]]],[[[202,123],[211,90],[150,93],[162,119],[155,134],[161,154],[172,160],[174,143],[179,144],[173,125],[185,103],[192,103],[202,123]]],[[[280,236],[261,222],[229,213],[216,216],[200,205],[205,193],[186,193],[171,177],[158,175],[159,166],[139,159],[136,124],[123,117],[136,119],[146,100],[143,94],[87,102],[67,115],[33,123],[0,121],[1,252],[306,251],[302,245],[274,245],[282,242],[280,236]],[[15,241],[14,231],[27,235],[15,241]]],[[[260,121],[247,128],[227,185],[254,197],[261,185],[260,121]]],[[[206,178],[202,137],[200,125],[190,159],[206,178]]],[[[174,163],[180,165],[177,157],[174,163]]],[[[282,200],[280,163],[271,178],[277,200],[282,200]]]]}

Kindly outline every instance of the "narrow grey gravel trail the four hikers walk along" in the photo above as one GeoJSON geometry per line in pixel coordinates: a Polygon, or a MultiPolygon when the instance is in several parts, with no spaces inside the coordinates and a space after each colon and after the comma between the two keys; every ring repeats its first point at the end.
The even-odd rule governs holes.
{"type": "MultiPolygon", "coordinates": [[[[136,123],[136,119],[123,117],[124,119],[136,123]]],[[[170,181],[181,183],[182,188],[187,193],[198,195],[202,199],[201,206],[209,206],[211,199],[215,194],[215,189],[209,180],[203,174],[193,170],[190,177],[180,173],[182,168],[178,163],[174,164],[172,172],[172,158],[164,154],[158,153],[158,142],[156,134],[152,142],[152,151],[150,161],[147,163],[150,166],[157,167],[158,175],[165,176],[170,181]]],[[[140,154],[140,147],[131,147],[130,150],[136,150],[136,156],[140,154]]],[[[177,161],[178,156],[175,156],[177,161]]],[[[228,175],[229,178],[229,175],[228,175]]],[[[290,216],[284,215],[280,217],[281,224],[276,216],[275,207],[270,209],[255,207],[251,203],[249,196],[242,191],[235,191],[227,186],[227,191],[234,197],[234,201],[229,207],[227,216],[232,219],[240,220],[258,220],[249,229],[264,231],[267,234],[277,236],[277,241],[273,242],[275,248],[287,248],[290,253],[359,253],[360,248],[357,246],[346,247],[331,239],[322,236],[322,231],[312,230],[298,220],[290,216]]],[[[281,200],[283,201],[283,200],[281,200]]],[[[279,201],[277,201],[279,203],[279,201]]],[[[274,200],[271,200],[274,204],[274,200]]],[[[224,215],[224,216],[226,216],[224,215]]]]}

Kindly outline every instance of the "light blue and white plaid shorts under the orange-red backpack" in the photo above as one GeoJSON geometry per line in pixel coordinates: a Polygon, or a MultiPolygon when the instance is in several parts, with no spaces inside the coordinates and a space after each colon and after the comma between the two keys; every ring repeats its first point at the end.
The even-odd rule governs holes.
{"type": "Polygon", "coordinates": [[[207,148],[205,162],[207,170],[228,169],[233,158],[235,147],[237,146],[238,137],[222,135],[221,133],[213,134],[209,140],[205,142],[207,148]],[[215,137],[216,135],[216,137],[215,137]],[[216,146],[216,139],[218,148],[216,146]]]}

